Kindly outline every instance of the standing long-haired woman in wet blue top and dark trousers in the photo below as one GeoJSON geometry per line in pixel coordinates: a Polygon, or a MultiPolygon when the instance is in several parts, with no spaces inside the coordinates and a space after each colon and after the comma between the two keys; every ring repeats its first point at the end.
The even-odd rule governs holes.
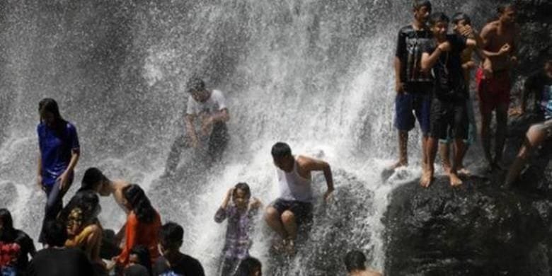
{"type": "MultiPolygon", "coordinates": [[[[56,219],[62,210],[62,198],[73,183],[73,169],[79,161],[80,146],[76,128],[59,115],[57,103],[44,98],[38,103],[38,186],[46,192],[44,221],[56,219]]],[[[42,227],[43,228],[43,227],[42,227]]],[[[42,231],[39,242],[42,242],[42,231]]]]}

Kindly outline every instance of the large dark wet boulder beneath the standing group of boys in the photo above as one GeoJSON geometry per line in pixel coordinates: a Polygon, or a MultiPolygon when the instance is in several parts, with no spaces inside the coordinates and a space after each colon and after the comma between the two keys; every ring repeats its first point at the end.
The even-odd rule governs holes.
{"type": "Polygon", "coordinates": [[[407,183],[384,217],[386,275],[550,275],[552,202],[481,178],[407,183]]]}

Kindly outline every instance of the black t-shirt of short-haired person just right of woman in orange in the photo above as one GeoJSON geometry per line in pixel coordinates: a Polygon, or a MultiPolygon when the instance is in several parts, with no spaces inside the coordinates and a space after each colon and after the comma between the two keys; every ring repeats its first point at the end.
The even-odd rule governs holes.
{"type": "Polygon", "coordinates": [[[199,260],[182,255],[182,258],[177,263],[168,266],[167,260],[164,257],[159,257],[154,264],[154,276],[205,276],[203,267],[199,260]],[[172,274],[171,274],[172,273],[172,274]]]}

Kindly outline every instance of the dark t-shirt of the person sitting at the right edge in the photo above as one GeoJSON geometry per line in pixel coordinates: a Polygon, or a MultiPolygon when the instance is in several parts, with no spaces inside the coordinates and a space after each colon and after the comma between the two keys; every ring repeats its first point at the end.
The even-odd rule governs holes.
{"type": "Polygon", "coordinates": [[[551,87],[552,87],[552,78],[549,77],[544,71],[539,70],[538,72],[531,74],[525,81],[525,90],[522,95],[523,98],[527,99],[531,94],[533,95],[533,101],[530,110],[541,119],[545,117],[546,106],[548,101],[551,99],[551,87]]]}

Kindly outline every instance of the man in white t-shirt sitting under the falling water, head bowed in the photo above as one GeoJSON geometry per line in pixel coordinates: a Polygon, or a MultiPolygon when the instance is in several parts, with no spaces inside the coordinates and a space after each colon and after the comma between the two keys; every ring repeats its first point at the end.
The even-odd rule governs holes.
{"type": "Polygon", "coordinates": [[[166,176],[176,170],[183,149],[207,146],[211,159],[217,160],[229,141],[226,122],[230,115],[222,91],[205,88],[205,82],[196,77],[188,81],[186,91],[190,94],[185,116],[186,133],[179,135],[171,147],[165,167],[166,176]],[[208,137],[208,142],[202,142],[200,137],[208,137]]]}

